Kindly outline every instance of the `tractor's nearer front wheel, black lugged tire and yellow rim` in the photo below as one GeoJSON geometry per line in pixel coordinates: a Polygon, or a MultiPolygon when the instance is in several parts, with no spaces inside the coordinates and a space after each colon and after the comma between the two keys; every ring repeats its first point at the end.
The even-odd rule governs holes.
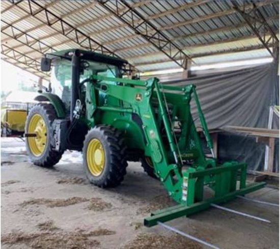
{"type": "Polygon", "coordinates": [[[89,181],[100,188],[114,188],[126,174],[126,146],[111,126],[96,126],[83,143],[83,167],[89,181]]]}

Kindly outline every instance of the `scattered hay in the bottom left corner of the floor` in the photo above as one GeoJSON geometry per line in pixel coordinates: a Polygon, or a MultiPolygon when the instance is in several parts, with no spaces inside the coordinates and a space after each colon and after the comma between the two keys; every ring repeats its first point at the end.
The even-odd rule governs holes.
{"type": "Polygon", "coordinates": [[[100,245],[100,242],[91,239],[91,233],[81,232],[43,232],[43,233],[9,233],[1,236],[2,244],[25,244],[29,248],[64,248],[88,249],[100,245]]]}

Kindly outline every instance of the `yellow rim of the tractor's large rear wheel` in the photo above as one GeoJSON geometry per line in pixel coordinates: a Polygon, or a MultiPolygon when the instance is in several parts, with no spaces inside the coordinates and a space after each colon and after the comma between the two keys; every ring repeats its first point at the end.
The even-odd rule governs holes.
{"type": "Polygon", "coordinates": [[[39,157],[44,152],[47,142],[46,123],[40,114],[32,116],[28,124],[27,133],[36,134],[36,137],[29,137],[27,141],[31,153],[39,157]]]}

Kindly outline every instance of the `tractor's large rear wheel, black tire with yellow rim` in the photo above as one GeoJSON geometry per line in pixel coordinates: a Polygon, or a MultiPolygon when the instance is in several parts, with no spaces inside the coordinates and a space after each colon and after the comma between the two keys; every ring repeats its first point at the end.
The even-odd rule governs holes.
{"type": "Polygon", "coordinates": [[[57,114],[51,104],[40,103],[34,106],[25,123],[25,133],[35,137],[26,137],[26,152],[32,163],[38,166],[51,167],[57,164],[63,154],[51,146],[51,124],[57,114]]]}

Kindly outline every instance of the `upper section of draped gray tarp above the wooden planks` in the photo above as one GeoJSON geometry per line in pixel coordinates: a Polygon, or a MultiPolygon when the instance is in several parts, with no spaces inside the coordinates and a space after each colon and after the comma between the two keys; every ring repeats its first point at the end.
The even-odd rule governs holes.
{"type": "Polygon", "coordinates": [[[230,125],[267,128],[269,107],[279,101],[278,82],[275,65],[265,64],[164,84],[195,84],[208,128],[213,129],[230,125]]]}

